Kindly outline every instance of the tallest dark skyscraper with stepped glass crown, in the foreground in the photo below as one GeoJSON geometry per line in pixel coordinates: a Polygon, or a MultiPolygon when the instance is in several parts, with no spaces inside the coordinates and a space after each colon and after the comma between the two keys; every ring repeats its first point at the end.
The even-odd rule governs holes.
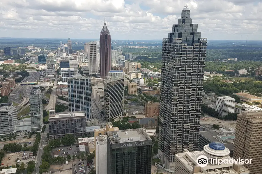
{"type": "Polygon", "coordinates": [[[197,26],[185,6],[163,38],[158,155],[171,170],[176,153],[198,150],[207,38],[197,26]]]}

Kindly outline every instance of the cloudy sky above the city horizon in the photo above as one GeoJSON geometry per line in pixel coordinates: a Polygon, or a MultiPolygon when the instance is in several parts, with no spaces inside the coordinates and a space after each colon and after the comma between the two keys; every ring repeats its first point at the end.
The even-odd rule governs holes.
{"type": "Polygon", "coordinates": [[[201,37],[262,40],[262,0],[0,0],[0,37],[162,39],[185,5],[201,37]]]}

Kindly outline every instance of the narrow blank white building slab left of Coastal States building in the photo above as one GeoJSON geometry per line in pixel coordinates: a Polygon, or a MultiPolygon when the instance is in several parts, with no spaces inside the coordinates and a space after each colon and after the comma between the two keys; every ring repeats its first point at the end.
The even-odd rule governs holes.
{"type": "Polygon", "coordinates": [[[107,137],[95,137],[95,171],[96,174],[107,174],[107,137]]]}

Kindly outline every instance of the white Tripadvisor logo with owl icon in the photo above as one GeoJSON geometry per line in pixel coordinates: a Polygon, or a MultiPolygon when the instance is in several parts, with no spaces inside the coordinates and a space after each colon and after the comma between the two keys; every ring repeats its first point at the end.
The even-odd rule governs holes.
{"type": "Polygon", "coordinates": [[[205,155],[200,155],[197,158],[197,164],[200,167],[205,167],[208,165],[208,162],[210,164],[251,164],[252,159],[240,159],[240,158],[231,158],[231,159],[219,159],[219,158],[213,158],[213,157],[206,157],[205,155]]]}

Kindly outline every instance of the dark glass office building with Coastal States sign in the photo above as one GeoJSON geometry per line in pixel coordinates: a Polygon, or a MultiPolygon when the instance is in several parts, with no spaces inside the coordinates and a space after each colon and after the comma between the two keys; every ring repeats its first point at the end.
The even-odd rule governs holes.
{"type": "Polygon", "coordinates": [[[152,139],[143,129],[107,132],[107,174],[151,174],[152,139]]]}

